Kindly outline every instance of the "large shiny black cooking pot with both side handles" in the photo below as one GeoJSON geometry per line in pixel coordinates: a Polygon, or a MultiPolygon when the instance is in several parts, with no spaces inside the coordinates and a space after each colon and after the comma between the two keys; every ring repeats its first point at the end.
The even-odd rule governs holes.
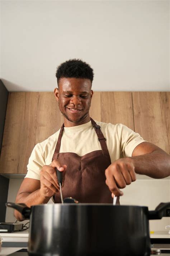
{"type": "Polygon", "coordinates": [[[30,216],[29,255],[147,256],[148,220],[170,216],[170,202],[161,203],[155,211],[111,204],[6,205],[26,219],[30,216]]]}

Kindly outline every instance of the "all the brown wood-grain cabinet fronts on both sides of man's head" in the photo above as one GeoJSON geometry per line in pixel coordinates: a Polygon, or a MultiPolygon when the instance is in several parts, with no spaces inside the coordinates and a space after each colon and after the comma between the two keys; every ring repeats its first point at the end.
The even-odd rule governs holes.
{"type": "MultiPolygon", "coordinates": [[[[90,116],[123,123],[170,153],[169,92],[94,92],[90,116]]],[[[11,92],[6,111],[0,173],[27,173],[34,146],[56,133],[63,116],[53,92],[11,92]]]]}

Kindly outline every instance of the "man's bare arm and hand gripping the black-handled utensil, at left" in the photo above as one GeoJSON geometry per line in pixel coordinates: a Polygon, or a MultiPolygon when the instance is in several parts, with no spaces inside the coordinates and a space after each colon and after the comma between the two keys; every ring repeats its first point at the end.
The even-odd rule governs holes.
{"type": "MultiPolygon", "coordinates": [[[[15,203],[25,203],[28,207],[47,203],[49,199],[58,193],[60,187],[58,185],[56,168],[63,172],[63,183],[66,165],[61,165],[59,161],[53,160],[51,165],[43,166],[40,172],[40,180],[25,178],[19,188],[15,203]]],[[[62,184],[63,186],[63,184],[62,184]]],[[[17,220],[24,220],[22,214],[14,211],[17,220]]]]}

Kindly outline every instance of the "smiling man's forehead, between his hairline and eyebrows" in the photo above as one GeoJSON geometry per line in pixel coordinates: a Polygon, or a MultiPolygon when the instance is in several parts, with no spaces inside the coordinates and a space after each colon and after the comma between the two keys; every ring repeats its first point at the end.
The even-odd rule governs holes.
{"type": "Polygon", "coordinates": [[[86,78],[66,78],[62,77],[59,81],[62,91],[90,91],[91,81],[86,78]]]}

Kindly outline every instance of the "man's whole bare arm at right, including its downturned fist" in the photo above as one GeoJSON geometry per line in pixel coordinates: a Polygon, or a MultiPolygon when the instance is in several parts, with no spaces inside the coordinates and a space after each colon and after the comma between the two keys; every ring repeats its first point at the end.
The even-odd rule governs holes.
{"type": "Polygon", "coordinates": [[[121,188],[136,180],[136,174],[155,179],[170,175],[170,155],[149,142],[142,142],[134,148],[132,157],[123,157],[111,163],[105,170],[106,184],[112,197],[123,196],[121,188]]]}

